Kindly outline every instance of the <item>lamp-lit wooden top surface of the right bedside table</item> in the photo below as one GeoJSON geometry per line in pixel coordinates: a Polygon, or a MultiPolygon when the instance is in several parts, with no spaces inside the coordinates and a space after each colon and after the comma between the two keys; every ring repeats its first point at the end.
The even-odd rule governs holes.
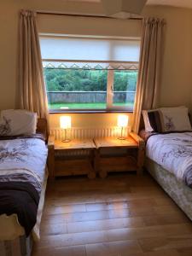
{"type": "Polygon", "coordinates": [[[138,143],[132,137],[119,140],[117,137],[95,138],[96,148],[137,148],[138,143]]]}

